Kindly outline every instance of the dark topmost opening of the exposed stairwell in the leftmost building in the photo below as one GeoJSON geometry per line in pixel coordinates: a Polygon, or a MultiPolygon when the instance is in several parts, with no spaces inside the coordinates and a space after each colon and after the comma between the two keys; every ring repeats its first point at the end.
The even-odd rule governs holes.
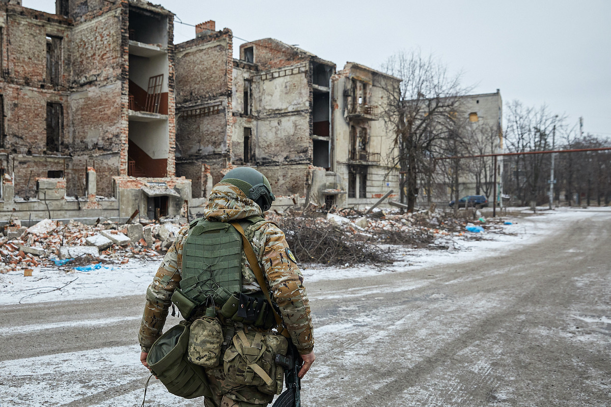
{"type": "Polygon", "coordinates": [[[167,46],[167,16],[144,9],[130,7],[130,40],[167,46]]]}

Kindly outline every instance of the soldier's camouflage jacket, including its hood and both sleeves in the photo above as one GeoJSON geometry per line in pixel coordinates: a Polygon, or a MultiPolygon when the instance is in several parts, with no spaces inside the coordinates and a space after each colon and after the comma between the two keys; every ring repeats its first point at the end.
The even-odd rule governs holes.
{"type": "MultiPolygon", "coordinates": [[[[260,207],[238,188],[227,182],[214,185],[208,204],[204,209],[208,220],[234,222],[251,216],[263,216],[260,207]]],[[[166,322],[170,298],[181,279],[183,245],[189,226],[184,226],[167,251],[159,266],[153,283],[148,286],[146,305],[138,339],[142,351],[148,352],[153,342],[161,335],[166,322]]],[[[268,283],[269,294],[280,308],[285,326],[291,334],[299,353],[310,353],[314,347],[310,303],[303,285],[299,267],[287,258],[287,240],[284,233],[273,223],[265,223],[259,229],[247,233],[259,265],[268,283]],[[252,236],[251,236],[252,235],[252,236]]],[[[260,291],[257,278],[242,255],[243,291],[260,291]]]]}

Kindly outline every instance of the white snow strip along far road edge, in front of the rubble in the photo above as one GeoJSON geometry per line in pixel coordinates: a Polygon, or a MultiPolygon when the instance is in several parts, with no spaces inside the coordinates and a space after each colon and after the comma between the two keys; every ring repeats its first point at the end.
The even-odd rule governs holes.
{"type": "MultiPolygon", "coordinates": [[[[532,214],[526,208],[519,208],[532,214]]],[[[540,211],[535,216],[507,217],[513,225],[502,225],[508,234],[484,232],[482,240],[452,237],[454,250],[403,250],[400,260],[383,268],[366,266],[328,267],[315,265],[302,267],[305,282],[328,279],[354,278],[379,273],[409,272],[415,267],[428,267],[463,261],[480,261],[496,256],[520,245],[536,242],[566,222],[582,217],[596,217],[601,211],[611,213],[611,207],[589,209],[560,208],[540,211]]],[[[516,212],[514,209],[513,212],[516,212]]],[[[469,234],[470,232],[466,232],[469,234]]],[[[0,275],[0,304],[40,303],[44,301],[86,300],[125,295],[144,294],[159,266],[161,258],[149,261],[130,260],[128,264],[106,265],[98,270],[79,272],[57,267],[37,267],[32,276],[19,272],[0,275]]]]}

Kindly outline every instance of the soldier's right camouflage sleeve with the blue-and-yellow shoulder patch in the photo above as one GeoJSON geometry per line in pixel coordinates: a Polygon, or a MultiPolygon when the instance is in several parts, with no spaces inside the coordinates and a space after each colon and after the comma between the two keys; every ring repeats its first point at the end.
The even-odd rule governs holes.
{"type": "Polygon", "coordinates": [[[259,249],[258,258],[264,267],[269,294],[280,308],[293,344],[302,355],[310,353],[314,348],[310,301],[303,275],[284,233],[273,223],[266,223],[258,229],[253,240],[255,248],[259,249]]]}

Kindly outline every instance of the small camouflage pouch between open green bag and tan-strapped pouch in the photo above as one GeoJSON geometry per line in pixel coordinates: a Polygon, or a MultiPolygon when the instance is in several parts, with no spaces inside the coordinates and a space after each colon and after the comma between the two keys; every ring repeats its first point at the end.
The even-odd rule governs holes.
{"type": "Polygon", "coordinates": [[[205,316],[191,324],[187,355],[189,362],[203,367],[216,367],[221,359],[223,330],[216,317],[205,316]]]}

